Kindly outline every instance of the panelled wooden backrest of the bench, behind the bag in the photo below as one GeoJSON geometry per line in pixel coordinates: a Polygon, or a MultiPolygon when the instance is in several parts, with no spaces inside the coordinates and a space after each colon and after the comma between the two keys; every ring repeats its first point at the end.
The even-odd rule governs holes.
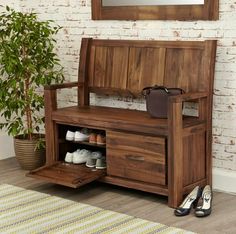
{"type": "Polygon", "coordinates": [[[84,38],[79,67],[81,104],[89,103],[89,92],[139,96],[144,87],[156,84],[212,94],[215,52],[213,40],[84,38]]]}

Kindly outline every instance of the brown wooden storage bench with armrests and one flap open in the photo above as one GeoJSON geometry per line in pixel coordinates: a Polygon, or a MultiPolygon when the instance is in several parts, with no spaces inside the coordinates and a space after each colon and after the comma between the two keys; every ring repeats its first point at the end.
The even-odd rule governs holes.
{"type": "Polygon", "coordinates": [[[45,87],[46,157],[30,176],[73,188],[99,179],[168,196],[176,207],[196,185],[211,184],[212,90],[216,41],[129,41],[82,39],[78,82],[45,87]],[[168,118],[146,111],[91,106],[90,93],[140,97],[146,86],[178,87],[168,118]],[[78,105],[57,108],[57,90],[78,88],[78,105]],[[184,102],[198,116],[183,116],[184,102]],[[65,140],[68,130],[102,131],[106,145],[65,140]],[[64,161],[86,148],[106,155],[105,170],[64,161]]]}

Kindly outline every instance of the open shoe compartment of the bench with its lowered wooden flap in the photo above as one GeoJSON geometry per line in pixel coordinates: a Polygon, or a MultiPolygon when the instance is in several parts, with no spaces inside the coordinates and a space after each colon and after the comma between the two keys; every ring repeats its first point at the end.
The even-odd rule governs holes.
{"type": "MultiPolygon", "coordinates": [[[[106,175],[106,169],[88,168],[84,163],[73,164],[65,162],[66,153],[72,153],[77,149],[100,151],[105,156],[105,145],[90,144],[88,141],[75,142],[66,140],[66,133],[68,130],[72,132],[80,131],[82,127],[59,123],[56,124],[56,128],[58,134],[55,136],[57,145],[57,157],[55,162],[29,172],[27,174],[28,176],[72,188],[79,188],[82,185],[88,184],[106,175]]],[[[104,131],[98,129],[91,130],[105,134],[104,131]]]]}

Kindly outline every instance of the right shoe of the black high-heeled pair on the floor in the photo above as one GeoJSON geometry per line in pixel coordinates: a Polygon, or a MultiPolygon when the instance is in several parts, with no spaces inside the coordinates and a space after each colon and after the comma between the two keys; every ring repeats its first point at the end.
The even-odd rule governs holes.
{"type": "Polygon", "coordinates": [[[195,210],[197,217],[205,217],[211,214],[212,207],[212,190],[209,185],[206,185],[202,191],[202,205],[198,206],[195,210]]]}

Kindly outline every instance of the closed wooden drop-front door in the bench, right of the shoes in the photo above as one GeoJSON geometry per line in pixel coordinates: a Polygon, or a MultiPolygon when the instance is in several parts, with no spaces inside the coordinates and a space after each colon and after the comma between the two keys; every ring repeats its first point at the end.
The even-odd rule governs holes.
{"type": "Polygon", "coordinates": [[[166,185],[165,139],[107,132],[107,174],[166,185]]]}

